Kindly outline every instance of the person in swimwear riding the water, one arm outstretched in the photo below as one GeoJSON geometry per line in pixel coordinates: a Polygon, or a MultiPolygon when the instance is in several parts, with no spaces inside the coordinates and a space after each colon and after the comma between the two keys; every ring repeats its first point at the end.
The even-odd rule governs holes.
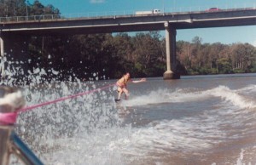
{"type": "Polygon", "coordinates": [[[131,83],[142,83],[142,82],[146,82],[146,78],[142,78],[141,80],[137,80],[137,81],[132,81],[130,78],[130,73],[127,72],[123,77],[121,77],[116,85],[118,86],[118,99],[116,99],[115,101],[119,101],[121,99],[121,95],[123,93],[125,93],[125,100],[128,99],[129,97],[129,90],[127,89],[127,83],[131,82],[131,83]]]}

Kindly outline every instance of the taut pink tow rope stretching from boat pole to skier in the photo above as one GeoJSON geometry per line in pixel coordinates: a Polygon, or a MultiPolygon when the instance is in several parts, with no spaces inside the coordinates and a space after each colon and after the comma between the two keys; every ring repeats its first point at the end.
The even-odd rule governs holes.
{"type": "Polygon", "coordinates": [[[81,96],[81,95],[92,94],[92,93],[95,93],[95,92],[100,91],[102,89],[109,88],[113,85],[115,85],[115,83],[107,85],[107,86],[102,87],[102,88],[96,88],[94,90],[90,90],[90,91],[87,91],[87,92],[83,92],[83,93],[79,93],[79,94],[73,94],[73,95],[70,95],[70,96],[67,96],[67,97],[62,97],[58,100],[52,100],[52,101],[44,102],[44,103],[41,103],[41,104],[38,104],[38,105],[26,106],[25,108],[22,108],[18,111],[14,111],[14,112],[10,112],[10,113],[0,113],[0,122],[4,122],[4,123],[7,123],[7,124],[13,124],[13,123],[16,122],[17,115],[20,111],[21,112],[29,111],[29,110],[32,110],[32,109],[35,109],[35,108],[38,108],[38,107],[41,107],[41,106],[44,106],[44,105],[50,105],[50,104],[54,104],[54,103],[57,103],[57,102],[60,102],[60,101],[63,101],[63,100],[73,99],[73,98],[76,98],[76,97],[81,96]]]}

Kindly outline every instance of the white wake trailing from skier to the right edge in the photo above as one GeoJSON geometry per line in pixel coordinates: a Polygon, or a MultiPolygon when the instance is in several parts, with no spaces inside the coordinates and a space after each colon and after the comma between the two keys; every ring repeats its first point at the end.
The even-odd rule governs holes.
{"type": "Polygon", "coordinates": [[[219,104],[230,104],[241,109],[256,108],[255,99],[252,95],[256,92],[256,85],[249,85],[245,88],[230,89],[226,86],[203,90],[200,88],[159,88],[149,94],[131,95],[130,100],[124,100],[122,105],[140,106],[157,105],[162,103],[181,103],[192,101],[204,101],[212,98],[220,98],[219,104]]]}

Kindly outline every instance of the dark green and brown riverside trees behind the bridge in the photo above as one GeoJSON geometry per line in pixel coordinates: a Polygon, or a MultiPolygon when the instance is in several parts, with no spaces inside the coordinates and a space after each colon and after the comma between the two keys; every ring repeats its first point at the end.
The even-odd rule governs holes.
{"type": "MultiPolygon", "coordinates": [[[[0,0],[0,16],[60,14],[39,1],[0,0]]],[[[181,75],[256,72],[256,48],[249,43],[177,41],[177,71],[181,75]]],[[[48,78],[67,80],[162,77],[166,71],[166,40],[160,31],[73,36],[31,37],[30,70],[43,68],[48,78]],[[56,72],[58,74],[56,74],[56,72]]]]}

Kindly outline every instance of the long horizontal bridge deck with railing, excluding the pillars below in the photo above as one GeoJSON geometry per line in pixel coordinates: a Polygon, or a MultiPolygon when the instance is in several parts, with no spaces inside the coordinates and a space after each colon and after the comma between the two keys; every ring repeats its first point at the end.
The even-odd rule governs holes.
{"type": "Polygon", "coordinates": [[[3,33],[18,32],[26,35],[160,31],[165,30],[166,22],[176,29],[253,26],[256,25],[256,8],[80,18],[41,15],[33,16],[33,20],[30,17],[4,19],[0,18],[0,27],[3,33]]]}

